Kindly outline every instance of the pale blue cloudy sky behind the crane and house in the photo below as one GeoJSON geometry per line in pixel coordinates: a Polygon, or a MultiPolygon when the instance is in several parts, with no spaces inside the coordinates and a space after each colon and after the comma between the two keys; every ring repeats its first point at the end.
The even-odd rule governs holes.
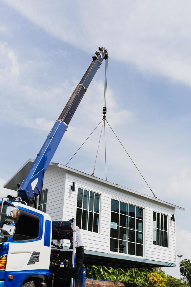
{"type": "MultiPolygon", "coordinates": [[[[35,158],[91,63],[107,47],[107,121],[159,199],[176,210],[177,255],[191,259],[190,1],[0,3],[0,192],[35,158]]],[[[102,119],[103,63],[52,161],[65,165],[102,119]]],[[[69,166],[91,174],[99,126],[69,166]]],[[[104,138],[95,176],[105,179],[104,138]]],[[[151,195],[106,125],[107,180],[151,195]]],[[[12,191],[11,191],[12,192],[12,191]]],[[[12,192],[13,194],[13,192],[12,192]]],[[[178,259],[179,260],[179,259],[178,259]]],[[[164,268],[179,277],[176,268],[164,268]]]]}

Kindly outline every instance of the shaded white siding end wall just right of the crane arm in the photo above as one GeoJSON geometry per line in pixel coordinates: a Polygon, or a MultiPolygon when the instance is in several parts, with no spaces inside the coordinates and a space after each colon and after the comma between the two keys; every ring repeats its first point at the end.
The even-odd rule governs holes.
{"type": "Polygon", "coordinates": [[[50,165],[45,174],[43,189],[48,189],[46,213],[52,220],[62,220],[66,170],[50,165]]]}

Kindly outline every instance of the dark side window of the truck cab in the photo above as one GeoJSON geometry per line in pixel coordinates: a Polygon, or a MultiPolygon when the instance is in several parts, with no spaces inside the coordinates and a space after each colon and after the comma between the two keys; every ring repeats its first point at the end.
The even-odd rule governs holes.
{"type": "Polygon", "coordinates": [[[15,223],[16,231],[13,241],[34,240],[39,236],[39,217],[37,215],[21,211],[18,222],[15,223]]]}

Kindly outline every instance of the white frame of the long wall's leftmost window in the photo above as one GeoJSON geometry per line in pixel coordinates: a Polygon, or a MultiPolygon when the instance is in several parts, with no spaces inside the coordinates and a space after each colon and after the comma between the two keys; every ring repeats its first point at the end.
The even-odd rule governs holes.
{"type": "MultiPolygon", "coordinates": [[[[82,233],[82,234],[83,234],[83,233],[84,233],[84,234],[88,234],[88,235],[93,234],[93,236],[100,237],[102,193],[101,193],[100,191],[97,191],[97,190],[93,189],[93,188],[90,189],[90,187],[88,187],[88,186],[76,184],[76,193],[77,193],[77,194],[76,194],[76,204],[75,204],[75,206],[76,206],[75,218],[76,218],[76,216],[77,216],[77,208],[79,208],[79,207],[77,207],[78,188],[85,189],[85,190],[89,191],[89,197],[90,197],[90,192],[96,193],[96,194],[98,194],[98,195],[100,196],[99,213],[97,213],[97,214],[99,215],[98,232],[89,231],[88,229],[87,229],[87,230],[86,230],[86,229],[81,229],[81,228],[79,227],[80,233],[82,233]]],[[[89,202],[88,202],[88,208],[89,208],[89,202]]],[[[79,209],[82,209],[82,210],[83,210],[83,208],[79,208],[79,209]]],[[[88,219],[89,219],[89,209],[84,209],[84,210],[87,210],[87,211],[88,211],[88,219]]],[[[90,212],[91,212],[91,211],[90,211],[90,212]]],[[[94,211],[93,211],[93,213],[94,213],[94,211]]],[[[87,221],[88,221],[88,219],[87,219],[87,221]]],[[[81,217],[81,224],[82,224],[82,217],[81,217]]]]}

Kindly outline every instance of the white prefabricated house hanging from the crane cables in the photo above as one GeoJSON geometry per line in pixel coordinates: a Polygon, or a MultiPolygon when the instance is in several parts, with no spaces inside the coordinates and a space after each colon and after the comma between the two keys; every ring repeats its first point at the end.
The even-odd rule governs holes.
{"type": "MultiPolygon", "coordinates": [[[[29,159],[4,187],[16,190],[29,159]]],[[[84,263],[114,267],[175,267],[175,209],[183,208],[58,163],[44,175],[38,209],[52,220],[77,219],[84,263]],[[71,186],[75,182],[75,190],[71,186]]],[[[64,248],[69,242],[63,242],[64,248]]]]}

